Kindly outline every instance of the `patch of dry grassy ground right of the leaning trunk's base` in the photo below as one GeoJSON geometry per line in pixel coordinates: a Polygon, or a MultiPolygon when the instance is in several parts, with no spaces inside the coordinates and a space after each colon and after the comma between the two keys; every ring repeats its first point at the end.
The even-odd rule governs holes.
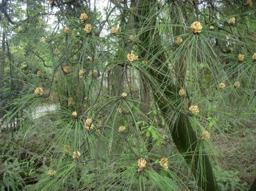
{"type": "Polygon", "coordinates": [[[227,171],[231,170],[238,176],[239,183],[245,182],[249,188],[256,176],[255,127],[256,124],[252,124],[247,129],[234,130],[225,136],[217,132],[212,136],[213,142],[223,155],[221,167],[227,171]]]}

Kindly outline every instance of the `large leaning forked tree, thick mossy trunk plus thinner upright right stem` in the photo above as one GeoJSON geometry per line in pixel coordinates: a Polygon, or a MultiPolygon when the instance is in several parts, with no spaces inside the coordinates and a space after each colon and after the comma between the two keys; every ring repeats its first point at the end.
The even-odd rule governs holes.
{"type": "MultiPolygon", "coordinates": [[[[148,72],[150,74],[151,86],[153,92],[155,92],[154,97],[159,105],[161,113],[166,117],[168,121],[168,126],[172,132],[172,138],[177,146],[178,150],[181,153],[185,154],[184,158],[188,165],[191,167],[193,175],[197,180],[198,187],[201,190],[218,190],[216,182],[214,180],[214,175],[210,160],[208,159],[207,154],[200,155],[197,147],[199,139],[197,138],[195,130],[193,130],[189,117],[180,112],[184,110],[184,105],[182,99],[179,98],[179,90],[181,87],[185,86],[185,78],[187,73],[188,59],[177,58],[179,54],[175,53],[175,61],[173,62],[176,82],[173,82],[173,79],[166,78],[169,76],[168,61],[166,61],[166,55],[162,51],[164,47],[161,45],[162,39],[159,35],[159,30],[156,25],[156,16],[157,15],[156,7],[154,1],[138,1],[137,2],[137,22],[141,31],[145,31],[140,34],[141,46],[143,50],[141,51],[142,57],[150,57],[152,55],[157,55],[154,57],[151,62],[152,65],[149,67],[148,72]],[[160,69],[160,70],[159,70],[160,69]],[[159,72],[161,71],[161,72],[159,72]],[[156,83],[158,86],[156,86],[156,83]],[[162,87],[161,89],[158,87],[162,87]],[[166,104],[166,103],[171,104],[166,104]],[[175,103],[172,104],[172,103],[175,103]],[[173,112],[174,107],[176,111],[173,112]],[[170,114],[175,115],[175,118],[168,120],[170,114]]],[[[171,3],[169,8],[172,11],[177,12],[179,9],[179,4],[171,3]]],[[[172,15],[174,25],[182,26],[182,23],[179,21],[181,18],[177,18],[177,15],[172,15]]],[[[182,16],[182,15],[179,15],[182,16]]],[[[176,29],[174,27],[174,35],[180,36],[182,31],[181,29],[176,29]]],[[[192,34],[193,35],[193,34],[192,34]]],[[[196,34],[197,35],[197,34],[196,34]]]]}

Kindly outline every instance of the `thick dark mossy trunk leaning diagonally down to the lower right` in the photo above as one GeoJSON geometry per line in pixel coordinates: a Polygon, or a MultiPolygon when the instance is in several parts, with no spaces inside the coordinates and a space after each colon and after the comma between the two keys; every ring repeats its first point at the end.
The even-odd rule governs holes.
{"type": "MultiPolygon", "coordinates": [[[[161,38],[159,36],[159,31],[154,27],[156,20],[146,20],[146,18],[152,16],[152,10],[155,9],[155,6],[156,3],[153,0],[139,0],[137,2],[137,13],[139,16],[141,16],[141,18],[136,18],[136,21],[142,22],[144,26],[148,25],[148,28],[151,29],[144,30],[144,32],[141,34],[141,57],[145,57],[146,55],[149,56],[149,54],[152,56],[159,55],[157,53],[161,52],[161,38]],[[148,14],[149,11],[150,15],[148,14]]],[[[152,80],[150,81],[154,92],[154,98],[156,99],[162,114],[166,118],[166,121],[169,124],[169,128],[171,128],[173,142],[175,143],[179,152],[184,154],[184,159],[193,172],[193,175],[197,181],[198,188],[201,190],[218,190],[210,160],[206,153],[199,154],[197,147],[198,138],[196,132],[192,129],[188,116],[179,111],[182,109],[181,99],[177,96],[179,95],[178,92],[180,90],[180,85],[178,83],[174,84],[173,82],[170,82],[168,79],[166,79],[167,77],[165,74],[169,72],[168,66],[165,65],[165,61],[166,58],[164,53],[160,54],[154,63],[152,63],[148,71],[151,75],[150,79],[155,80],[154,82],[152,80]],[[159,72],[159,68],[161,69],[161,72],[159,72]],[[159,90],[160,86],[164,86],[164,88],[159,90]],[[166,98],[170,99],[170,101],[176,105],[168,104],[166,102],[166,98]],[[170,112],[176,112],[176,118],[174,121],[170,121],[170,112]]],[[[183,65],[185,63],[175,64],[183,65]]],[[[182,73],[184,73],[184,67],[183,70],[176,70],[176,72],[179,72],[176,74],[179,76],[179,78],[182,77],[182,73]]]]}

